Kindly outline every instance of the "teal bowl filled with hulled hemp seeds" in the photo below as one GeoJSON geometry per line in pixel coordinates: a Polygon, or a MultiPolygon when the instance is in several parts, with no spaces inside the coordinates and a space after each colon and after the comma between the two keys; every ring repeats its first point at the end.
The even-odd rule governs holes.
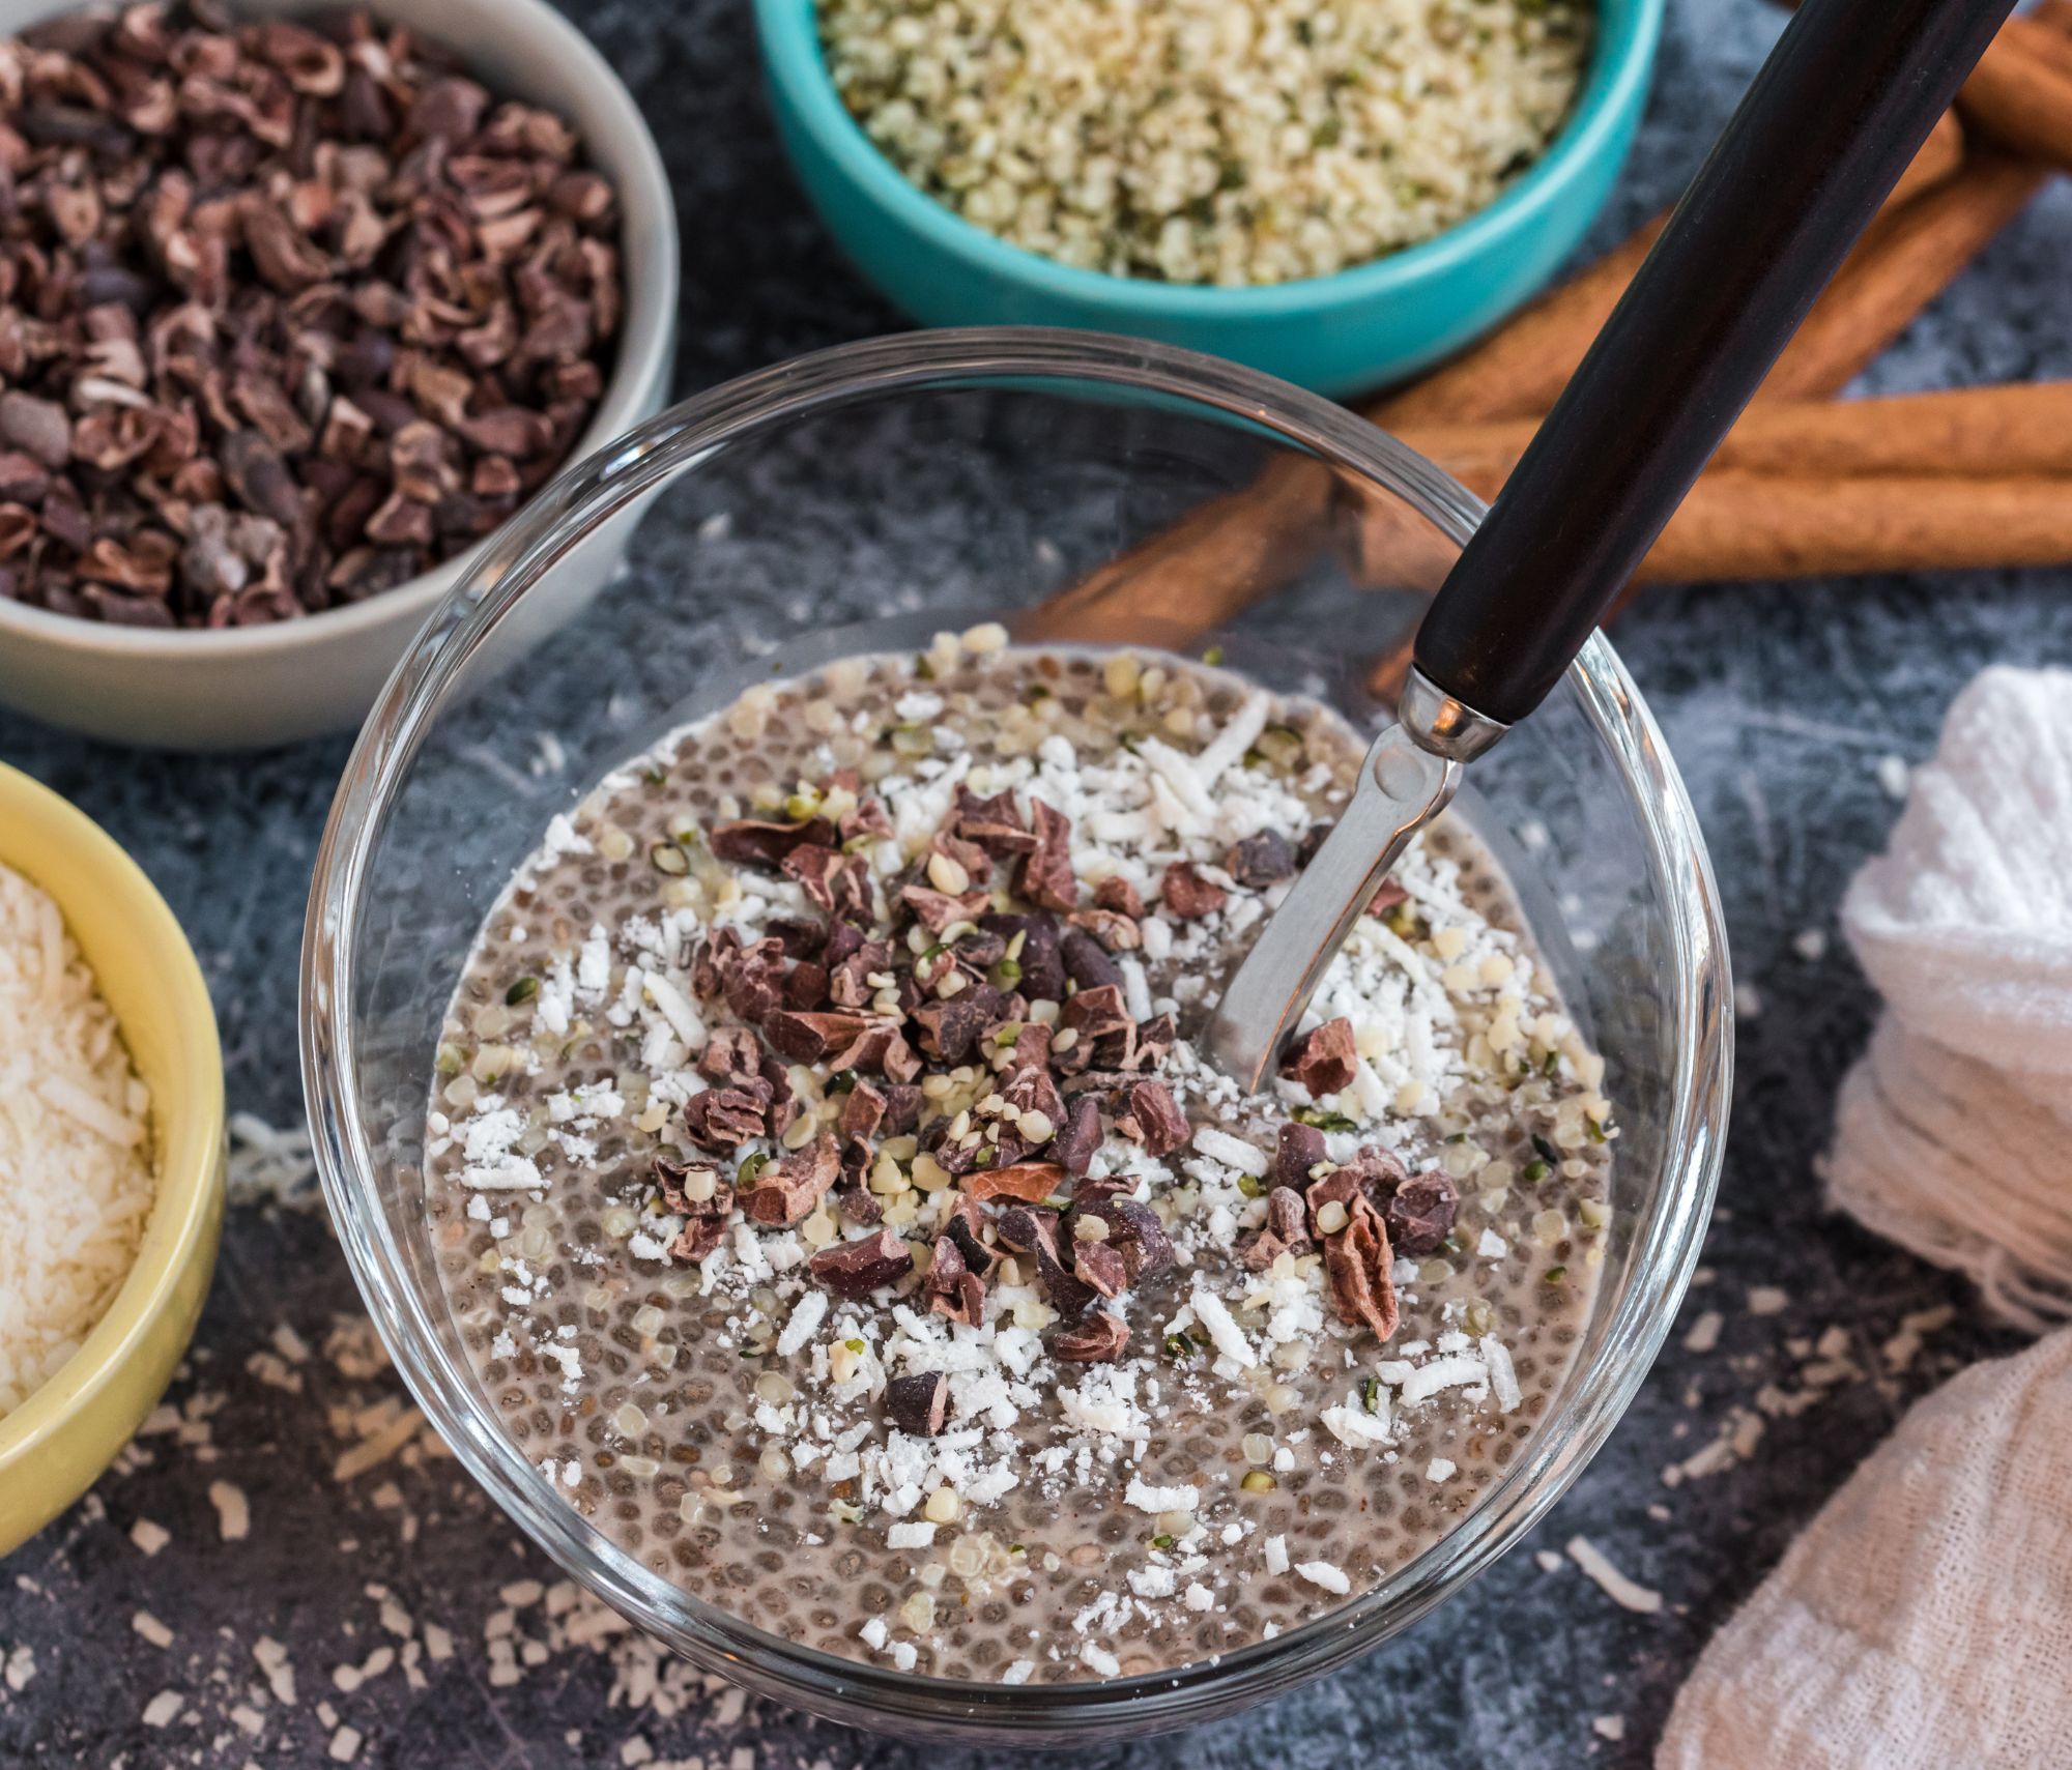
{"type": "Polygon", "coordinates": [[[821,218],[930,325],[1330,396],[1527,301],[1610,195],[1662,0],[756,0],[821,218]]]}

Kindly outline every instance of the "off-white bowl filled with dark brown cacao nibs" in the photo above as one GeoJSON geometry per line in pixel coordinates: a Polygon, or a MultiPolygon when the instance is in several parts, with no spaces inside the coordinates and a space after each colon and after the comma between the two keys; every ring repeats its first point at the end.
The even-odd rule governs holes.
{"type": "Polygon", "coordinates": [[[667,176],[543,0],[0,6],[0,703],[356,723],[470,551],[655,412],[667,176]]]}

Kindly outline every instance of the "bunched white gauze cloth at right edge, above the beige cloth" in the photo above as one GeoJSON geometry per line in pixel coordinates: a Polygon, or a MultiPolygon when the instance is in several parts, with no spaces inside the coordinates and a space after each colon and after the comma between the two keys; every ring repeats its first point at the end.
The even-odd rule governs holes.
{"type": "Polygon", "coordinates": [[[2033,1333],[2072,1316],[2072,672],[1958,694],[1842,929],[1886,1018],[1830,1198],[2033,1333]]]}

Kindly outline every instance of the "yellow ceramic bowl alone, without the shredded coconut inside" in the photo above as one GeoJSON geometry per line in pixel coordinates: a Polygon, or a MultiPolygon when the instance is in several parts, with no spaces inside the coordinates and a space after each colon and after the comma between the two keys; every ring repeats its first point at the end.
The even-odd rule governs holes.
{"type": "Polygon", "coordinates": [[[224,1057],[166,900],[91,819],[0,763],[0,862],[64,912],[151,1090],[157,1204],[87,1343],[0,1418],[0,1554],[79,1498],[166,1393],[224,1227],[224,1057]]]}

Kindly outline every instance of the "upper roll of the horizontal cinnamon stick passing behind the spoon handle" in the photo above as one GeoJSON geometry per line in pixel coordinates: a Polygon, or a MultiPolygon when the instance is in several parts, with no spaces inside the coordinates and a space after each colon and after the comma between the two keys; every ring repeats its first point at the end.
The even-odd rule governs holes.
{"type": "MultiPolygon", "coordinates": [[[[1409,429],[1401,439],[1490,499],[1533,437],[1535,419],[1409,429]]],[[[2068,475],[2072,381],[1958,388],[1877,400],[1765,400],[1749,406],[1707,473],[1811,477],[2068,475]]]]}

